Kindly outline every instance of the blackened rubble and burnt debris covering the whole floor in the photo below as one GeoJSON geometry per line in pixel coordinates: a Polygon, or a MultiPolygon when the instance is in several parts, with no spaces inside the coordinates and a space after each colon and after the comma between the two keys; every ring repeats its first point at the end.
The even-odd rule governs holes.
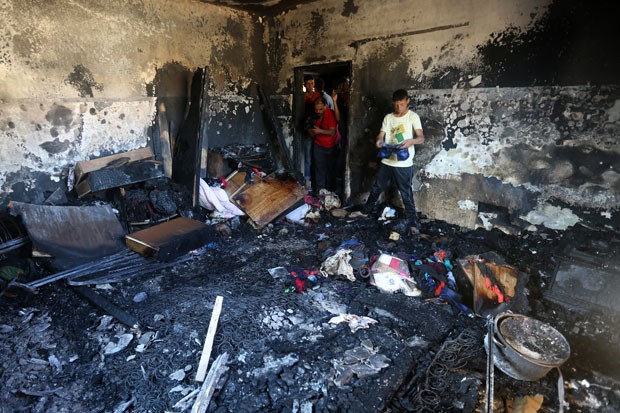
{"type": "MultiPolygon", "coordinates": [[[[227,190],[238,196],[260,188],[242,186],[227,190]]],[[[260,195],[252,196],[258,202],[260,195]]],[[[594,262],[584,244],[614,251],[615,234],[575,225],[511,235],[422,217],[420,237],[391,237],[398,222],[392,208],[381,220],[352,221],[350,208],[331,195],[329,208],[302,195],[286,192],[286,202],[257,219],[248,213],[219,221],[177,205],[182,218],[147,227],[181,219],[226,230],[175,250],[170,262],[133,251],[137,261],[103,259],[122,275],[135,268],[130,276],[114,277],[102,259],[85,264],[94,274],[78,266],[66,276],[42,264],[51,258],[5,251],[3,280],[34,288],[7,294],[3,287],[0,411],[480,411],[490,394],[484,315],[507,309],[553,326],[572,352],[561,366],[560,389],[555,370],[525,381],[493,368],[497,411],[510,403],[533,409],[533,400],[543,411],[559,410],[562,400],[584,410],[620,406],[620,365],[610,359],[620,342],[618,316],[600,306],[575,313],[558,294],[549,297],[551,287],[562,286],[561,264],[571,257],[609,272],[605,266],[615,260],[594,262]],[[303,225],[286,218],[301,200],[316,214],[303,225]],[[476,262],[480,257],[493,277],[476,262]],[[333,265],[326,265],[330,258],[333,265]],[[386,273],[396,278],[383,283],[386,273]],[[488,283],[477,282],[481,274],[488,283]],[[73,294],[86,281],[102,305],[73,294]],[[475,291],[484,294],[484,306],[475,291]],[[226,306],[217,310],[210,304],[217,300],[226,306]]],[[[141,239],[139,232],[131,234],[141,239]]],[[[183,236],[164,232],[171,245],[183,236]]]]}

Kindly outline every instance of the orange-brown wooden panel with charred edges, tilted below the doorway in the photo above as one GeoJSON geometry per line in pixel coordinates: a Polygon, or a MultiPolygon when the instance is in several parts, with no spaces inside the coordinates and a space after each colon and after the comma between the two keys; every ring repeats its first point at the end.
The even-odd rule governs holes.
{"type": "Polygon", "coordinates": [[[248,185],[233,200],[262,228],[306,196],[306,190],[290,176],[267,176],[261,182],[248,185]]]}

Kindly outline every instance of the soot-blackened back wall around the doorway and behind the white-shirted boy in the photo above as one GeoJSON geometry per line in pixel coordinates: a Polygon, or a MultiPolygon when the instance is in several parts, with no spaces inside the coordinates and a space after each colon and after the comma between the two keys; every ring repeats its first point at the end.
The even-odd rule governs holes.
{"type": "Polygon", "coordinates": [[[613,18],[606,5],[584,0],[319,1],[274,18],[268,61],[276,94],[291,105],[300,86],[294,68],[352,62],[353,202],[372,184],[374,137],[392,91],[404,88],[427,137],[415,161],[423,214],[474,226],[490,205],[520,227],[565,228],[593,208],[613,225],[620,207],[613,18]]]}

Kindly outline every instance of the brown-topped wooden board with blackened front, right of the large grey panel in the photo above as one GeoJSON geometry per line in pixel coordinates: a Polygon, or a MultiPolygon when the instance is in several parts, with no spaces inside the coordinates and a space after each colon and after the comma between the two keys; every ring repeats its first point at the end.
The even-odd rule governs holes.
{"type": "Polygon", "coordinates": [[[127,246],[159,261],[170,261],[215,239],[215,230],[186,217],[134,232],[125,237],[127,246]]]}

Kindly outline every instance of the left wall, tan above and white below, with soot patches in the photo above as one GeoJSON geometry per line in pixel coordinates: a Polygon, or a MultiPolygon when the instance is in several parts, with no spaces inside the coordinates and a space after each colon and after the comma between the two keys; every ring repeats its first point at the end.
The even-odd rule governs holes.
{"type": "Polygon", "coordinates": [[[0,21],[0,205],[41,203],[76,162],[147,145],[160,103],[178,131],[197,68],[210,144],[264,141],[256,16],[191,0],[4,0],[0,21]]]}

